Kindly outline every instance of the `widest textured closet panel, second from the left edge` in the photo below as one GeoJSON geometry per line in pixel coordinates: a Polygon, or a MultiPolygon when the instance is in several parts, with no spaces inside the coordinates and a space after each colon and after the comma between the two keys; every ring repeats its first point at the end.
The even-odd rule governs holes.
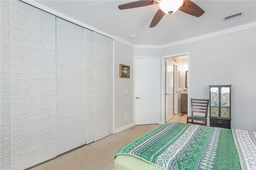
{"type": "Polygon", "coordinates": [[[56,34],[55,16],[20,1],[9,5],[10,168],[14,170],[56,156],[56,34]]]}

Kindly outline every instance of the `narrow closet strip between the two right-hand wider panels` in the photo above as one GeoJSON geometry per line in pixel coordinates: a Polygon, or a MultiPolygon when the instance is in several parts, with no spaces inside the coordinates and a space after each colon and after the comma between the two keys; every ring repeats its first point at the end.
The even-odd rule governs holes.
{"type": "Polygon", "coordinates": [[[84,28],[86,144],[94,142],[93,32],[84,28]]]}

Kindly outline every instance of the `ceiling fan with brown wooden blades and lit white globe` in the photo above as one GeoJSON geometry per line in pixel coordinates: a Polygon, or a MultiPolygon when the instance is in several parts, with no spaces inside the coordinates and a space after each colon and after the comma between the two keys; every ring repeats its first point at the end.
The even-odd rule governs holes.
{"type": "Polygon", "coordinates": [[[200,17],[204,14],[204,10],[190,0],[139,0],[127,4],[119,5],[120,10],[137,8],[142,6],[149,6],[159,3],[159,10],[156,12],[150,28],[155,27],[163,18],[164,14],[173,14],[177,10],[190,14],[192,16],[200,17]]]}

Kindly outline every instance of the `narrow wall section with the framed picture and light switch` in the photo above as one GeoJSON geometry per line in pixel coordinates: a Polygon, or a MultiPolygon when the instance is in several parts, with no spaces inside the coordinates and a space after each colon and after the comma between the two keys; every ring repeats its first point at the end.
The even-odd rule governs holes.
{"type": "Polygon", "coordinates": [[[114,42],[114,128],[118,132],[134,125],[133,47],[114,42]],[[130,66],[130,78],[119,77],[119,64],[130,66]],[[125,93],[125,89],[128,93],[125,93]],[[125,118],[127,113],[127,118],[125,118]]]}

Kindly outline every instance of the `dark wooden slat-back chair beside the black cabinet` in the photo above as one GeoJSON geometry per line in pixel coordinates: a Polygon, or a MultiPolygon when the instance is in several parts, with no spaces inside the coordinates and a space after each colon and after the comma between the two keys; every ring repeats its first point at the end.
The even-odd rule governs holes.
{"type": "Polygon", "coordinates": [[[208,104],[209,99],[191,99],[191,116],[187,117],[187,123],[206,126],[208,104]],[[194,121],[202,121],[202,123],[194,121]]]}

